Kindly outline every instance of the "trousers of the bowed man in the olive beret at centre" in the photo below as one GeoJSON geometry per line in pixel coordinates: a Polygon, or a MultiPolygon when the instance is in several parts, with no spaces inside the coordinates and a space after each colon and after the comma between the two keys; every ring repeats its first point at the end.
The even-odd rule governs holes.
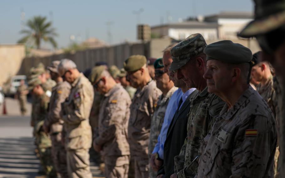
{"type": "Polygon", "coordinates": [[[134,156],[135,161],[135,178],[148,178],[148,156],[134,156]]]}

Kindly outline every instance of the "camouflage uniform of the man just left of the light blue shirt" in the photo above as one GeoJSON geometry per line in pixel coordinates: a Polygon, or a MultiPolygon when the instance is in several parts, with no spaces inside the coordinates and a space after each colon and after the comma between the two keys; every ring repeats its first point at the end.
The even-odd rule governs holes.
{"type": "MultiPolygon", "coordinates": [[[[148,159],[150,160],[151,154],[157,143],[157,138],[160,133],[165,111],[169,102],[170,97],[177,90],[177,87],[172,87],[165,96],[161,94],[158,98],[157,106],[155,107],[153,116],[151,118],[150,134],[149,134],[149,144],[148,144],[148,159]]],[[[149,176],[151,178],[156,178],[157,171],[154,171],[151,167],[149,168],[149,176]]]]}

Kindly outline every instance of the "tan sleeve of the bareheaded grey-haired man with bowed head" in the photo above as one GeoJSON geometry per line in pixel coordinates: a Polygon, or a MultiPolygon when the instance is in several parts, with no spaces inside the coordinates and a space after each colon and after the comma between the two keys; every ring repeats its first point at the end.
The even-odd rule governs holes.
{"type": "Polygon", "coordinates": [[[84,100],[85,97],[88,96],[84,92],[84,87],[80,87],[75,91],[75,94],[72,97],[73,99],[70,103],[64,103],[66,114],[62,117],[62,120],[68,124],[79,124],[81,121],[86,119],[84,100]]]}

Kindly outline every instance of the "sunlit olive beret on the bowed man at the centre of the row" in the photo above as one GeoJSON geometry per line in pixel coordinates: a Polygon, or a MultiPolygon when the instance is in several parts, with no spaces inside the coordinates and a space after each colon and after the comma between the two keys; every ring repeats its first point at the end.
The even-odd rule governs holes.
{"type": "Polygon", "coordinates": [[[127,72],[137,71],[147,63],[147,58],[144,55],[131,55],[124,62],[124,69],[127,72]]]}

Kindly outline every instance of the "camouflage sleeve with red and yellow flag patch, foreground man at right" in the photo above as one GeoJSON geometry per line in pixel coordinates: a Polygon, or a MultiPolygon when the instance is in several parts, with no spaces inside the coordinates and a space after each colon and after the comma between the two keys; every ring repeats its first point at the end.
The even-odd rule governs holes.
{"type": "Polygon", "coordinates": [[[270,117],[252,115],[239,128],[231,156],[230,177],[273,177],[277,136],[275,124],[270,122],[270,117]]]}

